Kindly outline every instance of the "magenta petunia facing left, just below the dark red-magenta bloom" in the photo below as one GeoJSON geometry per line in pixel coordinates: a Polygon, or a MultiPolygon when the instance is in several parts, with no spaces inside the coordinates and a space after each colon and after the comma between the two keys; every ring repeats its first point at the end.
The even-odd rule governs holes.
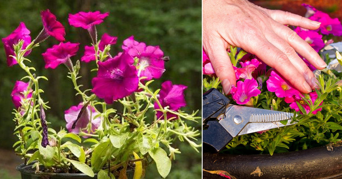
{"type": "Polygon", "coordinates": [[[76,55],[78,51],[79,43],[63,43],[54,45],[48,48],[45,53],[42,54],[45,61],[45,69],[55,69],[62,63],[67,63],[70,57],[76,55]]]}

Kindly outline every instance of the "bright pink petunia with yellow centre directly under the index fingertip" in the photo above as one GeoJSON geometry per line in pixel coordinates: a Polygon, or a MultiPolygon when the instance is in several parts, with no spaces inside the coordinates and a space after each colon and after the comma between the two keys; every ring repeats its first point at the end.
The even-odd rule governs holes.
{"type": "Polygon", "coordinates": [[[299,94],[299,91],[289,85],[279,74],[273,70],[266,81],[267,90],[274,92],[278,98],[290,97],[299,94]]]}

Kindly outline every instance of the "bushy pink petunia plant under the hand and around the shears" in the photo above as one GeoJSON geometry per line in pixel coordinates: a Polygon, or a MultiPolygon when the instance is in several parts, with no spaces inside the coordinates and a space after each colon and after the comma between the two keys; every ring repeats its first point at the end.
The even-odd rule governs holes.
{"type": "MultiPolygon", "coordinates": [[[[304,150],[323,145],[334,145],[342,139],[342,74],[341,46],[333,43],[334,36],[342,35],[342,25],[337,18],[318,11],[310,5],[307,17],[319,21],[317,30],[292,27],[329,64],[317,70],[301,57],[314,72],[318,83],[309,94],[302,94],[275,69],[243,49],[230,47],[227,53],[236,73],[236,86],[230,94],[231,103],[270,110],[294,113],[297,124],[235,137],[224,150],[229,153],[269,153],[304,150]],[[335,51],[333,51],[334,49],[335,51]],[[330,50],[330,56],[329,52],[330,50]],[[339,50],[339,51],[338,51],[339,50]],[[334,55],[336,52],[336,59],[334,55]],[[339,60],[341,59],[341,60],[339,60]],[[341,62],[341,63],[339,63],[341,62]]],[[[274,59],[276,60],[276,59],[274,59]]],[[[203,50],[203,91],[210,88],[222,90],[221,81],[215,77],[210,59],[203,50]]],[[[286,123],[287,121],[285,121],[286,123]]]]}

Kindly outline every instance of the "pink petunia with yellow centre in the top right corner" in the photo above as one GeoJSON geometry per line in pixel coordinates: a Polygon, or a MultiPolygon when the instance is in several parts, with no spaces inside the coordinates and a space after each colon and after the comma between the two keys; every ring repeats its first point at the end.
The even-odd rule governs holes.
{"type": "Polygon", "coordinates": [[[342,25],[338,18],[331,18],[327,13],[316,11],[316,13],[309,19],[315,20],[321,23],[319,29],[323,34],[333,34],[335,36],[342,35],[342,25]]]}

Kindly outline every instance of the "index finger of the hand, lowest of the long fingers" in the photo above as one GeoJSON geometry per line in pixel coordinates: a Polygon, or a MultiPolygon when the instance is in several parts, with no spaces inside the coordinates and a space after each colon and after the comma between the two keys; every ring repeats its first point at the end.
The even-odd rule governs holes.
{"type": "Polygon", "coordinates": [[[275,68],[285,79],[302,93],[311,92],[311,87],[298,72],[287,56],[265,38],[254,36],[254,40],[244,49],[258,56],[268,66],[275,68]]]}

